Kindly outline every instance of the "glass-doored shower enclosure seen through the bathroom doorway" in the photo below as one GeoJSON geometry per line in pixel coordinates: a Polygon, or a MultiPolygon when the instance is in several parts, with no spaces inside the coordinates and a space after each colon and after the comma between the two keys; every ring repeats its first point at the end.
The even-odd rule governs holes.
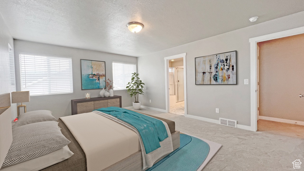
{"type": "Polygon", "coordinates": [[[169,68],[169,93],[170,105],[184,101],[184,68],[169,68]]]}

